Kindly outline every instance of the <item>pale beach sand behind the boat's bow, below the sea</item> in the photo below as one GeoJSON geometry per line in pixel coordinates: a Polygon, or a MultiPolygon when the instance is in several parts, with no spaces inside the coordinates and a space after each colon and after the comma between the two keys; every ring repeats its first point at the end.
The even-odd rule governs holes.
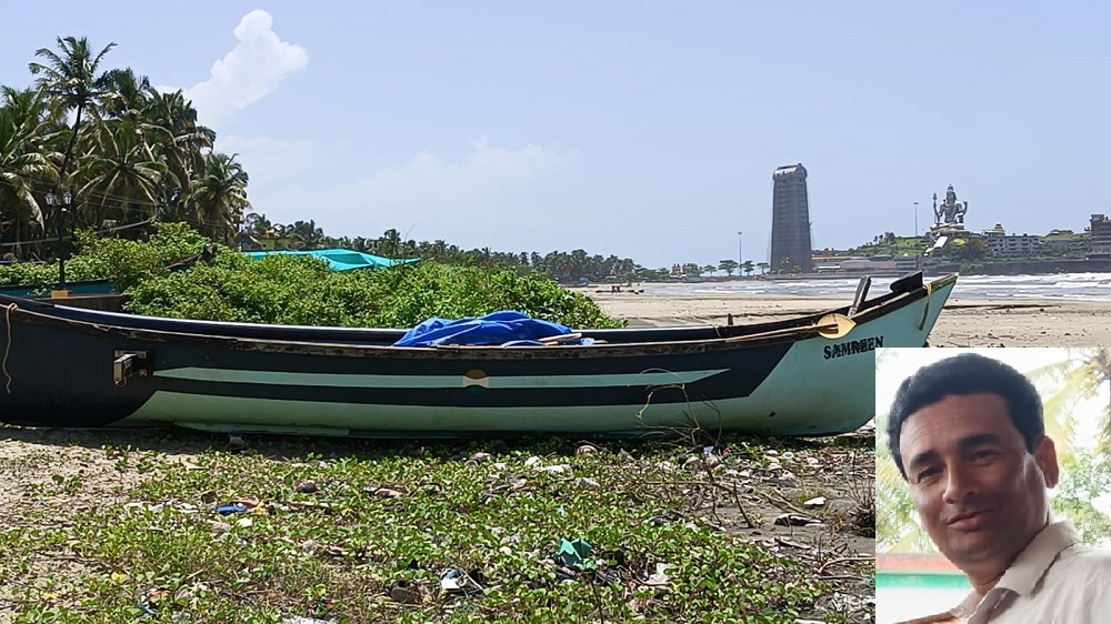
{"type": "MultiPolygon", "coordinates": [[[[609,315],[631,326],[755,323],[848,305],[851,296],[591,293],[609,315]]],[[[931,346],[1108,346],[1111,303],[950,299],[931,346]]]]}

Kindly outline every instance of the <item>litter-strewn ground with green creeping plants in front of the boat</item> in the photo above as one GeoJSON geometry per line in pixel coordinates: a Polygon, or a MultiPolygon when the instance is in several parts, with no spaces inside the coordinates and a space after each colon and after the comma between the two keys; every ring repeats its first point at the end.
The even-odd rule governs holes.
{"type": "Polygon", "coordinates": [[[0,474],[13,482],[11,497],[0,494],[0,620],[873,616],[864,582],[872,558],[847,546],[851,507],[819,512],[822,526],[779,527],[774,516],[800,496],[740,476],[790,470],[799,492],[832,496],[845,471],[871,473],[870,440],[727,437],[715,441],[720,463],[710,467],[691,462],[702,455],[693,440],[267,439],[234,453],[180,431],[0,435],[9,449],[0,474]],[[774,469],[767,457],[777,457],[774,469]],[[236,501],[247,510],[216,513],[236,501]],[[591,545],[581,563],[553,558],[562,540],[579,539],[591,545]],[[462,587],[444,588],[448,573],[466,574],[462,587]]]}

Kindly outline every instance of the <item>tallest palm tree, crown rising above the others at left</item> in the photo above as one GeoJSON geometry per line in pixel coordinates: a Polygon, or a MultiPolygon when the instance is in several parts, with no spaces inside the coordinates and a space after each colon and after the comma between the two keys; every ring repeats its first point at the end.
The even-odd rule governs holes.
{"type": "Polygon", "coordinates": [[[116,43],[109,43],[100,52],[93,53],[89,40],[84,37],[81,39],[59,37],[59,52],[40,48],[34,56],[46,59],[46,63],[28,64],[32,74],[42,74],[36,82],[44,90],[57,111],[62,115],[70,111],[76,112],[73,129],[66,152],[62,154],[62,163],[58,168],[56,190],[66,178],[66,168],[73,154],[73,145],[81,129],[82,113],[86,110],[94,111],[101,99],[109,93],[111,78],[109,74],[98,73],[98,70],[104,54],[114,47],[116,43]]]}

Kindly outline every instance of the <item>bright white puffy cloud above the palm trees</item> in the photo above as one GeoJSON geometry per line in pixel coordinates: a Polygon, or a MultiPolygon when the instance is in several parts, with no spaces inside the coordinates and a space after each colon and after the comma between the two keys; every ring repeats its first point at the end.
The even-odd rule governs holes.
{"type": "Polygon", "coordinates": [[[239,43],[212,63],[212,76],[186,89],[201,123],[209,127],[267,97],[309,63],[309,51],[282,41],[273,31],[273,18],[261,9],[243,16],[234,34],[239,43]]]}

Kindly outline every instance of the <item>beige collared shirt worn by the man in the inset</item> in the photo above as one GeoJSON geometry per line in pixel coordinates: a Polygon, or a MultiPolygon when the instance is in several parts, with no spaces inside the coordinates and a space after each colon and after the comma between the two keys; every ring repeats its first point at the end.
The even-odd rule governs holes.
{"type": "Polygon", "coordinates": [[[1050,524],[991,591],[951,613],[967,624],[1111,623],[1111,552],[1080,543],[1069,522],[1050,524]]]}

